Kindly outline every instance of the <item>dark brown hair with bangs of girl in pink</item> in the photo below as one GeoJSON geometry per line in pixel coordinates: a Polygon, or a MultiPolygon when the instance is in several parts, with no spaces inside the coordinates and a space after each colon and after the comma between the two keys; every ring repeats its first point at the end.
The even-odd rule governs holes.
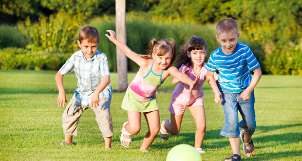
{"type": "Polygon", "coordinates": [[[204,39],[193,36],[187,43],[180,46],[180,54],[178,55],[178,59],[176,60],[176,67],[179,69],[182,64],[191,65],[192,61],[188,57],[188,52],[192,50],[205,50],[207,51],[207,43],[204,39]]]}

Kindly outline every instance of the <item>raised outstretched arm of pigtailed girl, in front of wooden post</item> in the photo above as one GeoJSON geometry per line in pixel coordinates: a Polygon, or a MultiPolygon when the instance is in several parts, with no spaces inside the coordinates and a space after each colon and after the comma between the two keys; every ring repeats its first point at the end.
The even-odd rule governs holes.
{"type": "Polygon", "coordinates": [[[125,53],[125,55],[130,58],[131,60],[133,60],[135,63],[137,63],[137,65],[142,66],[146,64],[146,60],[144,58],[142,58],[140,55],[136,54],[135,52],[133,52],[127,45],[123,44],[122,42],[120,42],[119,40],[116,40],[116,34],[113,30],[107,30],[107,32],[110,33],[110,35],[105,34],[105,36],[111,40],[119,49],[121,49],[123,51],[123,53],[125,53]]]}

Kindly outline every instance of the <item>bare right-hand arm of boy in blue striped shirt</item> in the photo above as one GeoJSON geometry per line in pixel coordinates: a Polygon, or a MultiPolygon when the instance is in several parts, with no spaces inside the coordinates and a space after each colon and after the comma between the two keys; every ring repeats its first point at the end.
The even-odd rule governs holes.
{"type": "Polygon", "coordinates": [[[259,80],[262,76],[262,71],[261,71],[260,67],[253,70],[253,72],[254,72],[254,75],[253,75],[251,83],[238,97],[239,99],[242,98],[243,101],[248,101],[250,99],[251,93],[253,92],[254,88],[256,87],[257,83],[259,82],[259,80]]]}

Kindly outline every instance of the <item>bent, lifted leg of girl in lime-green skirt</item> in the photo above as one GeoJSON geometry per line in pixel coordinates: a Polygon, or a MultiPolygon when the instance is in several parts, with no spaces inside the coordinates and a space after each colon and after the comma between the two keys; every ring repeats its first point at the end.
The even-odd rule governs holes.
{"type": "MultiPolygon", "coordinates": [[[[140,131],[140,121],[141,121],[141,113],[137,111],[127,111],[128,113],[128,121],[126,124],[125,130],[128,131],[132,135],[136,135],[140,131]]],[[[125,135],[123,136],[126,139],[130,139],[131,136],[125,135]]],[[[122,141],[124,145],[130,146],[130,142],[122,141]]]]}

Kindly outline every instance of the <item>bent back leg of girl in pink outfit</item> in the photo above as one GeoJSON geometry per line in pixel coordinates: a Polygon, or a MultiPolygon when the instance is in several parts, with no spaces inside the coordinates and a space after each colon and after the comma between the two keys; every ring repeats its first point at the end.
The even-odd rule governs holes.
{"type": "Polygon", "coordinates": [[[174,115],[171,113],[170,122],[165,121],[163,124],[163,127],[167,131],[161,130],[161,132],[164,134],[170,133],[171,135],[178,134],[181,127],[181,121],[183,121],[183,116],[184,114],[174,115]]]}

